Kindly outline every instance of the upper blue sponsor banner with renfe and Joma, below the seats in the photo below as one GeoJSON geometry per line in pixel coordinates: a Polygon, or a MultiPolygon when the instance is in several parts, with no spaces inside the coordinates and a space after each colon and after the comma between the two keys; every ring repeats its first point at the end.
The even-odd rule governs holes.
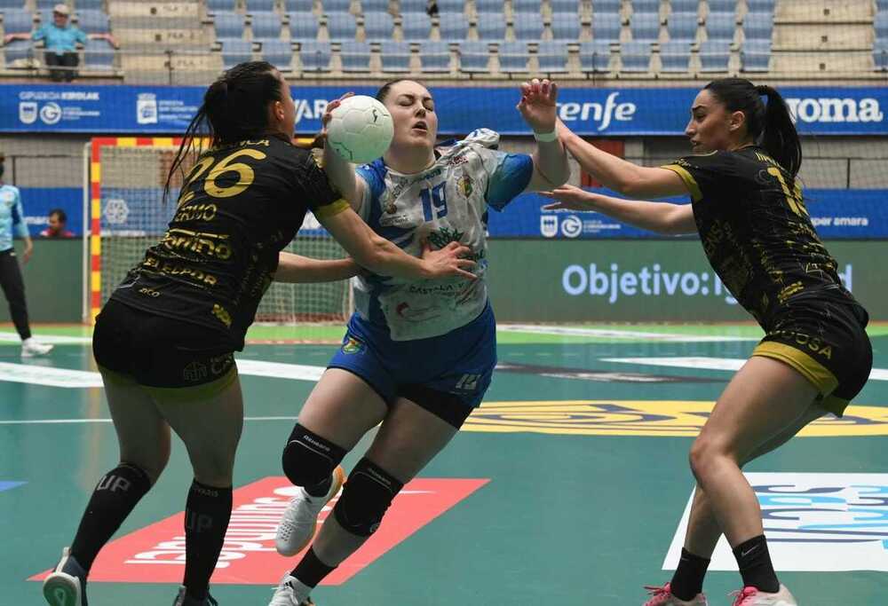
{"type": "MultiPolygon", "coordinates": [[[[175,135],[186,129],[203,87],[51,84],[0,85],[0,132],[85,132],[175,135]]],[[[297,133],[321,127],[329,100],[345,91],[373,95],[375,87],[295,86],[297,133]]],[[[583,135],[681,135],[695,88],[562,88],[559,116],[583,135]]],[[[885,135],[886,87],[787,87],[781,92],[811,135],[885,135]]],[[[433,87],[442,136],[480,127],[527,135],[515,105],[517,87],[433,87]]]]}

